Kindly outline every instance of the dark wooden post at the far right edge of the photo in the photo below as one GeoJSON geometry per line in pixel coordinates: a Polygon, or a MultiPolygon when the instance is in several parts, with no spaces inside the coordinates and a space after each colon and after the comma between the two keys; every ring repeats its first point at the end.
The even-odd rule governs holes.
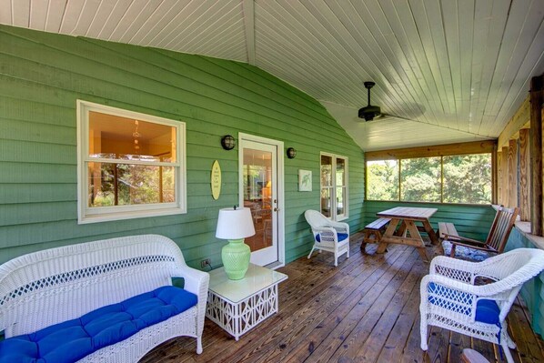
{"type": "Polygon", "coordinates": [[[542,76],[530,80],[531,233],[542,236],[542,76]]]}

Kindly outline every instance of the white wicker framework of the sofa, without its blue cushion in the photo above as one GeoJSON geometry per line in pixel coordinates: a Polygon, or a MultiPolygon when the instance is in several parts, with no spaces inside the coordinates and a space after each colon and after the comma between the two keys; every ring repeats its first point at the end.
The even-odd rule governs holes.
{"type": "Polygon", "coordinates": [[[157,235],[45,249],[6,262],[0,266],[0,331],[5,338],[29,334],[172,285],[172,277],[184,278],[184,288],[198,298],[195,307],[79,362],[136,362],[179,336],[196,338],[201,353],[209,275],[188,267],[176,243],[157,235]]]}

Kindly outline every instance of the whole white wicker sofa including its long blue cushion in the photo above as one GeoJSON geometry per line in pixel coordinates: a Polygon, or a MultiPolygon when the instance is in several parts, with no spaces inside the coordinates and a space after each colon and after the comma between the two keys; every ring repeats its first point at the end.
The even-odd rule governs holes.
{"type": "Polygon", "coordinates": [[[136,362],[179,336],[195,337],[201,353],[208,281],[157,235],[16,257],[0,266],[0,362],[136,362]]]}

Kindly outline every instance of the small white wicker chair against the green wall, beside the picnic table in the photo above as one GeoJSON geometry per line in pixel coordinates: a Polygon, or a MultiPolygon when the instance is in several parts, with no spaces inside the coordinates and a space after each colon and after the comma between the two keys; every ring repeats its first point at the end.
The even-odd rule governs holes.
{"type": "Polygon", "coordinates": [[[317,210],[307,210],[304,213],[308,225],[312,227],[314,246],[308,258],[312,256],[314,249],[319,252],[328,251],[335,255],[335,266],[338,266],[338,257],[348,254],[349,257],[349,225],[348,223],[335,222],[323,216],[317,210]]]}

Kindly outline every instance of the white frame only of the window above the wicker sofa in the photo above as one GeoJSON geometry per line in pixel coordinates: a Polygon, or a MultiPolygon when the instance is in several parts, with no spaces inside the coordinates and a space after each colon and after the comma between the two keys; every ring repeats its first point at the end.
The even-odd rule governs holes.
{"type": "Polygon", "coordinates": [[[77,224],[124,220],[140,217],[169,216],[186,213],[186,123],[159,116],[142,114],[113,106],[105,106],[78,99],[77,115],[77,224]],[[91,111],[135,118],[141,121],[172,126],[176,129],[176,162],[146,162],[89,157],[89,113],[91,111]],[[88,207],[88,163],[114,163],[144,166],[172,166],[175,170],[176,200],[172,203],[153,203],[127,206],[88,207]]]}

